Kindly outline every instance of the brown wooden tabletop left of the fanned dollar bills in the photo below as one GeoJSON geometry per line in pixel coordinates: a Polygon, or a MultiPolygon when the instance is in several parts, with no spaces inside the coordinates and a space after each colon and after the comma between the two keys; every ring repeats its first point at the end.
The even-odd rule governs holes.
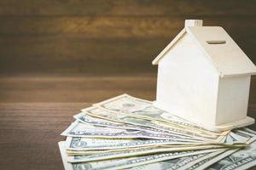
{"type": "MultiPolygon", "coordinates": [[[[0,169],[63,169],[57,142],[88,103],[0,104],[0,169]]],[[[256,118],[256,105],[250,105],[256,118]]],[[[254,130],[255,124],[251,127],[254,130]]],[[[255,169],[253,167],[252,169],[255,169]]]]}

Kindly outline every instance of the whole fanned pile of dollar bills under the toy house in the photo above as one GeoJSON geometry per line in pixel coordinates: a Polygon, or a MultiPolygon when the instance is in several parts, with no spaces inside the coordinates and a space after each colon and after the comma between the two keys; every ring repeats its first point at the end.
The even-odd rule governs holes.
{"type": "Polygon", "coordinates": [[[81,110],[61,133],[65,169],[247,169],[256,132],[212,132],[123,94],[81,110]]]}

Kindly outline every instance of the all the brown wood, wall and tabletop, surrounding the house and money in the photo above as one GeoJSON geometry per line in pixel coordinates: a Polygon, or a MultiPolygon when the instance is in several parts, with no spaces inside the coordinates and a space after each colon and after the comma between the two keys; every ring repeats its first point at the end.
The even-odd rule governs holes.
{"type": "MultiPolygon", "coordinates": [[[[80,109],[124,93],[154,99],[151,60],[185,19],[223,26],[255,64],[255,6],[255,0],[1,0],[0,169],[63,169],[57,142],[80,109]]],[[[255,112],[253,77],[248,115],[255,112]]]]}

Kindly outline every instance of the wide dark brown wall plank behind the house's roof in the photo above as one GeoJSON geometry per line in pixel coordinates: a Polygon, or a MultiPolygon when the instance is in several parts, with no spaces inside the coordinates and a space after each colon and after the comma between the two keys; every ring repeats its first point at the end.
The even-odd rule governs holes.
{"type": "MultiPolygon", "coordinates": [[[[233,21],[225,22],[223,19],[225,30],[255,63],[253,37],[256,35],[254,31],[247,31],[247,26],[256,29],[255,22],[248,25],[246,23],[250,19],[236,19],[237,23],[241,23],[241,26],[236,26],[232,24],[233,21]]],[[[69,72],[113,74],[116,65],[122,65],[119,73],[152,73],[155,70],[151,61],[183,27],[183,19],[173,18],[95,18],[90,22],[88,18],[64,17],[3,22],[7,24],[0,28],[3,35],[0,37],[2,75],[69,72]],[[59,26],[59,22],[64,23],[59,26]],[[79,22],[82,24],[79,25],[79,22]],[[12,26],[14,23],[15,26],[12,26]]]]}

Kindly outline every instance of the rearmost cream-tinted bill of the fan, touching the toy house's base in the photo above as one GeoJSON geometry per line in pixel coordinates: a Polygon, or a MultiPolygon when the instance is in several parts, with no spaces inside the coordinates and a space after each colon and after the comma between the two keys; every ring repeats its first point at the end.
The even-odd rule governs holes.
{"type": "Polygon", "coordinates": [[[107,99],[100,103],[94,104],[94,106],[102,108],[106,111],[112,111],[114,113],[122,113],[129,116],[136,116],[152,121],[166,122],[178,127],[191,128],[195,131],[202,131],[204,133],[214,133],[209,130],[195,125],[192,122],[188,122],[180,117],[174,116],[171,113],[162,111],[159,108],[154,107],[151,101],[145,99],[138,99],[128,94],[122,94],[112,99],[107,99]]]}

